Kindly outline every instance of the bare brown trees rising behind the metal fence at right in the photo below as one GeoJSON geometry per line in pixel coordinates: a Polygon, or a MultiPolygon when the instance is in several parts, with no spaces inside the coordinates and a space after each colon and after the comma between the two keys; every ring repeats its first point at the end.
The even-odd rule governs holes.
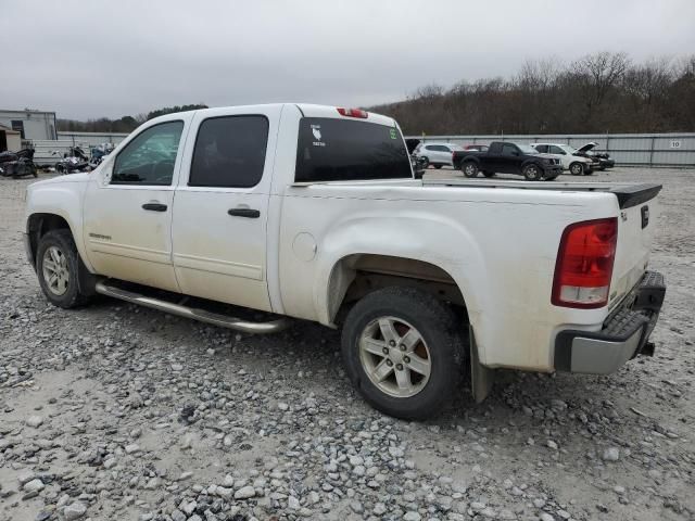
{"type": "Polygon", "coordinates": [[[432,84],[369,110],[418,136],[695,131],[695,55],[527,61],[508,78],[432,84]]]}

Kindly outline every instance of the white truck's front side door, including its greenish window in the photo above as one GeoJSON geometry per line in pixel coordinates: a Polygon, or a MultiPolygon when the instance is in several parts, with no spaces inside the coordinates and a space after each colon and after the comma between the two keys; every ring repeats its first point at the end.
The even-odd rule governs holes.
{"type": "Polygon", "coordinates": [[[90,176],[84,240],[99,275],[178,291],[172,205],[190,115],[180,116],[144,128],[90,176]]]}

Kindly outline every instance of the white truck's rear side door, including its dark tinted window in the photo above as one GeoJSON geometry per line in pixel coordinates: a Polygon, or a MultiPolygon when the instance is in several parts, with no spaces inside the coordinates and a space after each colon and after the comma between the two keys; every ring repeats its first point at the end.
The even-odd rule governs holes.
{"type": "Polygon", "coordinates": [[[172,238],[181,292],[270,310],[266,224],[281,105],[195,113],[172,238]]]}

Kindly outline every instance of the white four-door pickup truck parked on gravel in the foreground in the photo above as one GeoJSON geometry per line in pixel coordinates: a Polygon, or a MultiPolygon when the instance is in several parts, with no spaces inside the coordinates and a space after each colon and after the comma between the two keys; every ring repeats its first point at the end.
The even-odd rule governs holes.
{"type": "Polygon", "coordinates": [[[208,109],[31,185],[25,244],[56,306],[100,293],[247,332],[340,327],[364,397],[419,419],[467,374],[482,399],[496,368],[609,373],[650,354],[660,188],[420,180],[389,117],[208,109]]]}

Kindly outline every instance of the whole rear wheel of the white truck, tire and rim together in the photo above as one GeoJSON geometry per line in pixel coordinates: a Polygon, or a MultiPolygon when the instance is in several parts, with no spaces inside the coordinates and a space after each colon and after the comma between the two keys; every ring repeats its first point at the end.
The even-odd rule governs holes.
{"type": "Polygon", "coordinates": [[[414,288],[362,298],[348,314],[343,361],[364,398],[387,415],[422,420],[455,395],[464,338],[450,306],[414,288]]]}

